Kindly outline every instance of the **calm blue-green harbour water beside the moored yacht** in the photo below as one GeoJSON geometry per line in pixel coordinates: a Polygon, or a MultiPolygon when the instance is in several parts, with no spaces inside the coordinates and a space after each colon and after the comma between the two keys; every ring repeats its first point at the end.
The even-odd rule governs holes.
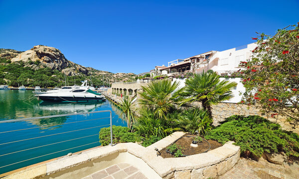
{"type": "MultiPolygon", "coordinates": [[[[79,103],[49,103],[37,100],[33,96],[32,90],[0,90],[0,120],[18,119],[27,117],[47,116],[56,114],[70,114],[78,112],[90,112],[100,110],[112,111],[113,125],[127,126],[120,116],[121,111],[110,101],[106,102],[79,102],[79,103]]],[[[37,119],[23,122],[0,123],[0,174],[15,170],[21,167],[32,165],[38,162],[49,160],[52,158],[66,155],[70,152],[78,152],[88,148],[99,146],[98,133],[100,128],[109,127],[110,119],[109,112],[75,115],[66,117],[37,119]],[[99,120],[90,120],[85,122],[76,122],[89,119],[104,118],[99,120]],[[72,123],[71,123],[72,122],[72,123]],[[75,122],[75,123],[73,123],[75,122]],[[69,124],[68,124],[69,123],[69,124]],[[107,126],[102,126],[107,125],[107,126]],[[96,127],[101,126],[101,127],[96,127]],[[96,128],[91,128],[96,127],[96,128]],[[32,128],[32,129],[27,129],[32,128]],[[86,130],[79,130],[91,128],[86,130]],[[19,130],[27,129],[27,130],[19,130]],[[18,130],[14,132],[6,132],[18,130]],[[19,141],[38,136],[51,135],[56,133],[79,130],[75,132],[30,139],[20,142],[3,144],[13,141],[19,141]],[[92,135],[92,136],[90,136],[92,135]],[[84,137],[90,136],[90,137],[84,137]],[[80,138],[71,140],[75,138],[80,138]],[[48,145],[65,140],[68,142],[48,145]],[[94,144],[90,144],[96,142],[94,144]],[[88,144],[88,145],[86,145],[88,144]],[[48,145],[35,149],[26,150],[38,146],[48,145]],[[82,146],[84,145],[84,146],[82,146]],[[75,148],[77,146],[82,146],[75,148]],[[73,149],[70,149],[73,148],[73,149]],[[17,152],[26,150],[22,152],[17,152]],[[61,152],[57,152],[61,151],[61,152]],[[13,153],[17,152],[17,153],[13,153]],[[13,154],[8,154],[13,153],[13,154]],[[53,153],[53,154],[51,154],[53,153]],[[8,155],[5,155],[8,154],[8,155]],[[50,155],[47,155],[50,154],[50,155]],[[42,157],[39,157],[42,156],[42,157]],[[27,161],[24,161],[27,160],[27,161]],[[24,161],[24,162],[20,162],[24,161]],[[20,162],[20,163],[18,163],[20,162]],[[12,163],[17,163],[11,166],[3,167],[12,163]]],[[[123,116],[122,116],[123,117],[123,116]]]]}

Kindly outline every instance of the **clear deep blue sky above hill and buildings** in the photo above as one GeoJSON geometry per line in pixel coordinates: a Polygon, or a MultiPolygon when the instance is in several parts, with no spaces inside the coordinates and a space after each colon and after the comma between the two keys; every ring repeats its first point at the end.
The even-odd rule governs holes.
{"type": "Polygon", "coordinates": [[[58,48],[113,73],[254,42],[299,21],[299,0],[0,0],[0,48],[58,48]]]}

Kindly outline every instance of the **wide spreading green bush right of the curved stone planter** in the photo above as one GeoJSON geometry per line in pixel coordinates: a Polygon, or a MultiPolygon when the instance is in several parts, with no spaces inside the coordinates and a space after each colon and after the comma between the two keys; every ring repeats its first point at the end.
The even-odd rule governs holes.
{"type": "Polygon", "coordinates": [[[282,130],[279,124],[261,116],[233,115],[211,130],[205,138],[222,144],[229,140],[235,141],[242,153],[249,151],[257,157],[261,157],[264,152],[285,152],[287,156],[299,157],[299,136],[282,130]]]}

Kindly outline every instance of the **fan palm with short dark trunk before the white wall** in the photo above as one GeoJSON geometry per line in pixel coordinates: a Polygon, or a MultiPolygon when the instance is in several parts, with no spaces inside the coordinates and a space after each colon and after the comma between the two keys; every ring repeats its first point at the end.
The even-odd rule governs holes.
{"type": "Polygon", "coordinates": [[[220,76],[214,73],[194,74],[185,82],[182,95],[184,102],[201,102],[203,109],[207,110],[212,118],[211,105],[229,100],[233,97],[231,89],[237,86],[235,82],[220,81],[220,76]]]}

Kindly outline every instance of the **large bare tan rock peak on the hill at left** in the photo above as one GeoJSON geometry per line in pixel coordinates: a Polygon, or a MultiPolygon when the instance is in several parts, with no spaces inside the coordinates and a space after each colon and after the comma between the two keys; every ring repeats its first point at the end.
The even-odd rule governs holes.
{"type": "Polygon", "coordinates": [[[34,66],[34,69],[49,67],[52,70],[59,70],[68,76],[73,76],[76,72],[80,72],[85,75],[88,74],[88,70],[86,67],[68,61],[60,52],[60,50],[44,45],[36,45],[30,50],[22,52],[11,59],[11,62],[19,61],[40,62],[40,65],[38,67],[34,66]]]}

